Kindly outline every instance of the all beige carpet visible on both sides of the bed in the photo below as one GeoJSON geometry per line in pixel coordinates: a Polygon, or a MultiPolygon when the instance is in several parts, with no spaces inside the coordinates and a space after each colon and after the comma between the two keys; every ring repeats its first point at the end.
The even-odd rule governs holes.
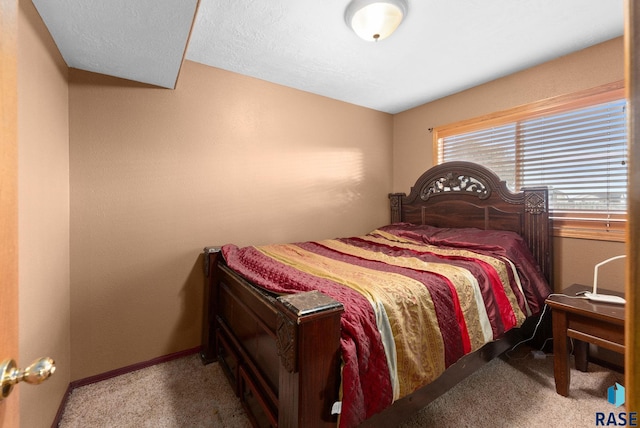
{"type": "MultiPolygon", "coordinates": [[[[555,393],[553,360],[526,348],[487,364],[422,409],[403,428],[592,427],[596,412],[624,411],[607,388],[624,376],[594,364],[571,371],[570,397],[555,393]]],[[[217,364],[197,355],[92,385],[71,394],[59,425],[71,427],[250,427],[217,364]]],[[[387,427],[390,428],[390,427],[387,427]]]]}

